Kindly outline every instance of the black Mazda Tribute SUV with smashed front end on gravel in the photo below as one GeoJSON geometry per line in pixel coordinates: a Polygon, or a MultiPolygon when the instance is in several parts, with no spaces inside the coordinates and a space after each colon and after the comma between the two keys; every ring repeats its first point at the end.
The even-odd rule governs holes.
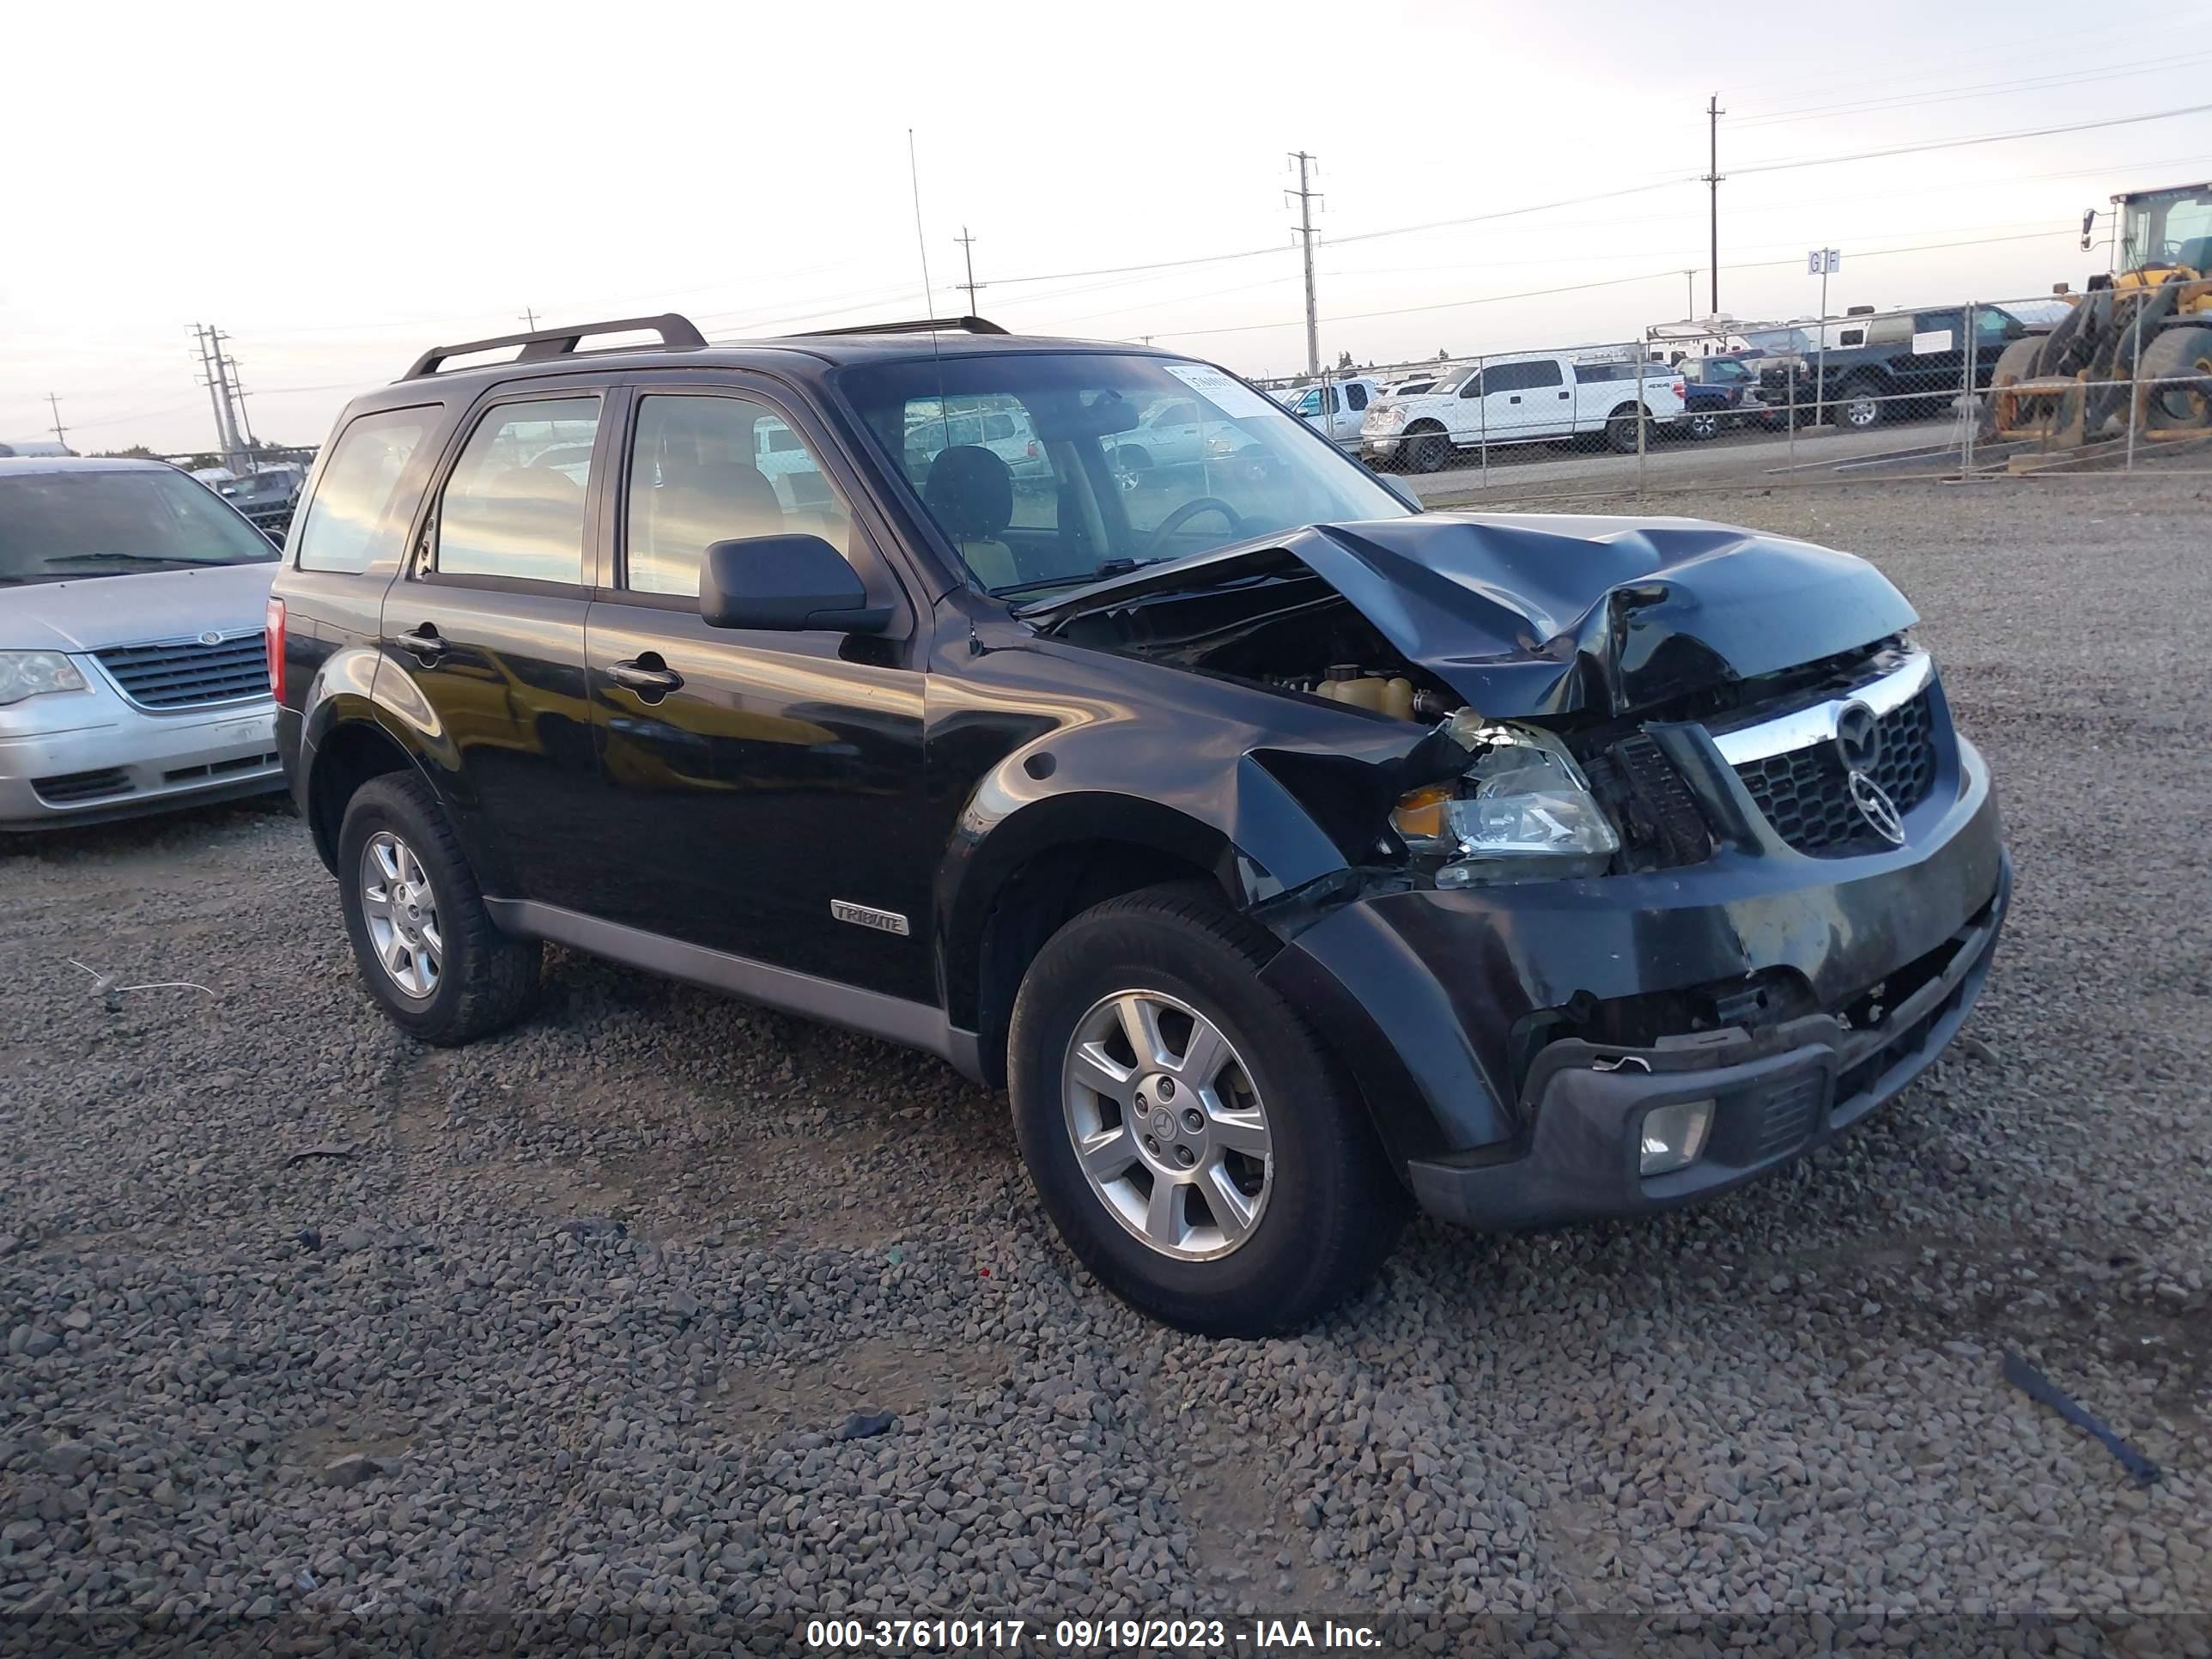
{"type": "Polygon", "coordinates": [[[1913,622],[1805,542],[1420,513],[1219,367],[978,319],[427,352],[270,604],[400,1026],[498,1031],[553,940],[927,1048],[1206,1332],[1409,1201],[1686,1203],[1933,1060],[2011,874],[1913,622]]]}

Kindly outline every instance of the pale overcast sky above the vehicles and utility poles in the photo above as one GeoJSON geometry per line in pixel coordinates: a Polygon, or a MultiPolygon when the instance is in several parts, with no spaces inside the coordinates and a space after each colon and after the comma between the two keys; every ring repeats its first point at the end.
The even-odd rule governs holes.
{"type": "Polygon", "coordinates": [[[1686,314],[1690,268],[1703,314],[1714,91],[1723,312],[1814,310],[1823,243],[1838,312],[2046,294],[2106,263],[2084,206],[2212,175],[2212,115],[1752,168],[2212,102],[2205,22],[2212,0],[18,7],[0,440],[46,436],[51,389],[77,449],[208,447],[197,321],[232,334],[257,434],[316,442],[349,392],[524,307],[681,310],[717,338],[916,316],[909,126],[940,314],[967,226],[984,316],[1254,376],[1305,361],[1296,148],[1329,358],[1630,338],[1686,314]]]}

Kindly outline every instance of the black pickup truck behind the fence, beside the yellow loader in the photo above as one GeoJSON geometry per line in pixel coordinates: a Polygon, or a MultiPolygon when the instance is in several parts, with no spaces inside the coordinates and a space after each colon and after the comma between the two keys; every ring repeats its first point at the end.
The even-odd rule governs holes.
{"type": "MultiPolygon", "coordinates": [[[[1845,319],[1829,332],[1825,349],[1801,343],[1767,358],[1759,385],[1770,407],[1787,411],[1794,403],[1798,420],[1865,431],[1882,420],[1938,414],[1966,389],[1964,305],[1845,319]]],[[[1973,385],[1986,389],[2004,347],[2028,334],[2028,323],[2002,305],[1978,305],[1973,385]]]]}

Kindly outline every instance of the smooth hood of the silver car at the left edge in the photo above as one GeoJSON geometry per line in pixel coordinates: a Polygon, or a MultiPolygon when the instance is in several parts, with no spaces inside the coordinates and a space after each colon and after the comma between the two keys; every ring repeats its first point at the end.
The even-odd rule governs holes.
{"type": "Polygon", "coordinates": [[[0,586],[0,650],[82,653],[261,628],[274,577],[276,560],[0,586]]]}

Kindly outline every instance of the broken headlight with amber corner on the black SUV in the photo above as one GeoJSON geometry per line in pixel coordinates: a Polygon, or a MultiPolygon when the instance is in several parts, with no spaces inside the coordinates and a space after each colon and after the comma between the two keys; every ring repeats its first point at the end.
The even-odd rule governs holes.
{"type": "Polygon", "coordinates": [[[1533,726],[1480,726],[1464,710],[1444,730],[1473,750],[1473,765],[1391,812],[1438,887],[1606,872],[1621,836],[1559,739],[1533,726]]]}

